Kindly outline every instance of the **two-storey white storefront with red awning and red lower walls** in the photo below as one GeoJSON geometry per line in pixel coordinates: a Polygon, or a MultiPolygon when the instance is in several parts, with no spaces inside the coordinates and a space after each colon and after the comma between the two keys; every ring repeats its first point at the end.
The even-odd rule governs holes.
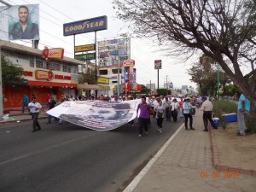
{"type": "Polygon", "coordinates": [[[1,55],[23,67],[25,79],[22,85],[3,86],[3,95],[7,99],[3,104],[4,108],[21,107],[24,95],[28,96],[30,101],[32,96],[36,96],[41,103],[47,102],[49,96],[61,98],[77,95],[78,66],[82,65],[83,61],[68,57],[47,61],[40,49],[2,40],[0,49],[1,55]]]}

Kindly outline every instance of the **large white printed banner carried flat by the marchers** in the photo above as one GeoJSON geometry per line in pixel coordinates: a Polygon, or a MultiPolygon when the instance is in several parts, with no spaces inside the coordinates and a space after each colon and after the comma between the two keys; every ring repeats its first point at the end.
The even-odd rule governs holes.
{"type": "Polygon", "coordinates": [[[136,118],[137,101],[104,102],[80,101],[67,102],[49,110],[47,113],[75,125],[96,131],[109,131],[125,125],[136,118]],[[64,108],[65,107],[65,108],[64,108]]]}

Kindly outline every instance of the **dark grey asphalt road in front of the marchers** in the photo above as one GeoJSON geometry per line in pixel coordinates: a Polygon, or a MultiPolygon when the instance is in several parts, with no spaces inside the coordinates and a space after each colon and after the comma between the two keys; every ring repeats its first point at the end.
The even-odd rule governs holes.
{"type": "Polygon", "coordinates": [[[90,131],[72,124],[46,124],[32,133],[32,121],[0,125],[1,192],[122,191],[183,124],[156,121],[148,136],[138,124],[114,131],[90,131]]]}

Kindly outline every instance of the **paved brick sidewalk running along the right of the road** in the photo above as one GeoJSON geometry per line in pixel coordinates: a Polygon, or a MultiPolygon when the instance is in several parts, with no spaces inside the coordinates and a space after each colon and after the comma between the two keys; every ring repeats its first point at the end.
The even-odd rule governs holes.
{"type": "Polygon", "coordinates": [[[210,132],[202,131],[202,112],[199,110],[196,111],[193,126],[195,131],[185,131],[181,127],[152,166],[147,165],[149,169],[145,166],[124,191],[255,191],[256,177],[214,169],[210,132]]]}

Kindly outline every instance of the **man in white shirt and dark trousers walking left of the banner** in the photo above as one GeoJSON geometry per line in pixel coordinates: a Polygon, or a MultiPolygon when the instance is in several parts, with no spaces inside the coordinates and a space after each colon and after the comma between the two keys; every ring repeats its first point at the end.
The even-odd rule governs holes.
{"type": "Polygon", "coordinates": [[[38,123],[38,115],[40,113],[40,109],[43,112],[44,112],[44,109],[42,108],[41,104],[37,102],[37,97],[32,97],[32,102],[28,103],[28,108],[30,108],[30,113],[32,113],[32,119],[33,119],[32,132],[41,130],[41,126],[38,123]]]}

